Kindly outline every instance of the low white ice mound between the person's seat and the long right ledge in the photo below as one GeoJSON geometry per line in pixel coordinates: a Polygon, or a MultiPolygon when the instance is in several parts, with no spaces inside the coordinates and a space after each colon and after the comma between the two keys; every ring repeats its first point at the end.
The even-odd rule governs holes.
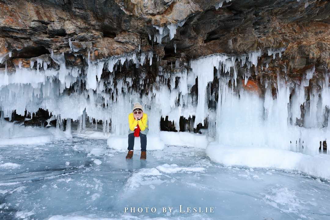
{"type": "Polygon", "coordinates": [[[205,135],[189,132],[160,132],[160,139],[168,145],[189,146],[206,149],[209,141],[205,135]]]}

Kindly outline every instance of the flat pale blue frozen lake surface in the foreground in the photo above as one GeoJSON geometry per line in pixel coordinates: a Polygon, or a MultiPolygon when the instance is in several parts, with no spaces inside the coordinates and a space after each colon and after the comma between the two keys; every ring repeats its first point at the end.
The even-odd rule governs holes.
{"type": "Polygon", "coordinates": [[[81,138],[0,147],[0,219],[330,219],[329,182],[304,173],[224,167],[178,146],[125,156],[81,138]]]}

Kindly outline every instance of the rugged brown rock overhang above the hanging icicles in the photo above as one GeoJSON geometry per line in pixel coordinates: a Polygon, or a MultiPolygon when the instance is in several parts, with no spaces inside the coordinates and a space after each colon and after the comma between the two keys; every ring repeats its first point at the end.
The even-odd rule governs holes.
{"type": "MultiPolygon", "coordinates": [[[[289,78],[301,77],[313,66],[316,74],[328,72],[330,1],[232,0],[224,1],[219,9],[216,3],[218,0],[4,0],[0,2],[0,67],[5,67],[6,60],[7,67],[16,68],[18,59],[51,51],[68,58],[90,54],[93,59],[153,51],[156,69],[170,68],[178,59],[184,67],[190,59],[213,53],[239,57],[257,51],[261,57],[253,72],[259,78],[278,72],[283,75],[284,69],[289,78]],[[161,44],[154,41],[159,34],[155,26],[170,32],[170,24],[180,21],[173,39],[167,35],[161,44]],[[266,65],[270,67],[267,71],[266,65]]],[[[76,61],[69,63],[83,65],[82,60],[76,61]]],[[[242,74],[242,68],[238,69],[242,74]]]]}

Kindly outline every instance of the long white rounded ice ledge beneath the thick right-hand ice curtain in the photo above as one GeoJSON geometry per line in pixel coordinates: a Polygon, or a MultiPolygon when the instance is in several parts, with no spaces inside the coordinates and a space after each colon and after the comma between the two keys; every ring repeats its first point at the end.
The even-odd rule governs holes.
{"type": "Polygon", "coordinates": [[[310,156],[270,147],[233,147],[210,142],[206,155],[226,166],[248,166],[299,170],[309,175],[330,179],[330,157],[310,156]]]}

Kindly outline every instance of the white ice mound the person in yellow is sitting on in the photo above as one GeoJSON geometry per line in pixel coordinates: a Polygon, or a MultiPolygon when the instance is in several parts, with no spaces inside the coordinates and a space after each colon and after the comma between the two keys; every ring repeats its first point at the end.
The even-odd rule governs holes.
{"type": "MultiPolygon", "coordinates": [[[[127,150],[128,147],[128,136],[121,135],[121,136],[110,136],[107,145],[111,148],[116,150],[127,150]]],[[[134,149],[140,150],[141,143],[140,138],[135,138],[134,141],[134,149]]],[[[147,150],[163,150],[164,149],[164,142],[160,140],[159,135],[156,134],[148,134],[147,135],[147,150]]]]}

